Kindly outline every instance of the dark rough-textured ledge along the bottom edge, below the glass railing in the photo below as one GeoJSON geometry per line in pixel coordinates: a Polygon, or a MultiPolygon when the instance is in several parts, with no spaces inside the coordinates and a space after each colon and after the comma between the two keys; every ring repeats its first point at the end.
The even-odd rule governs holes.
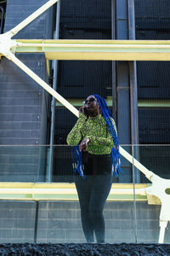
{"type": "Polygon", "coordinates": [[[148,256],[170,255],[168,244],[1,244],[0,255],[61,255],[61,256],[148,256]]]}

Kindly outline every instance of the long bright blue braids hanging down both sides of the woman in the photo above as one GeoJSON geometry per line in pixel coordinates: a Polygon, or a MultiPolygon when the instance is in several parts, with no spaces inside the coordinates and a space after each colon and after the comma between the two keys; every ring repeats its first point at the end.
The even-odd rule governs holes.
{"type": "MultiPolygon", "coordinates": [[[[120,168],[120,153],[119,153],[119,142],[118,137],[116,133],[116,129],[111,121],[111,119],[114,119],[110,109],[107,106],[107,103],[105,102],[105,99],[97,94],[94,94],[94,97],[96,98],[97,102],[99,103],[99,107],[101,109],[101,113],[105,119],[107,128],[111,134],[111,137],[113,139],[113,142],[115,144],[115,147],[111,149],[111,156],[112,156],[112,171],[111,174],[115,174],[116,177],[118,177],[118,172],[122,172],[120,168]]],[[[115,121],[115,119],[114,119],[115,121]]],[[[115,122],[116,124],[116,122],[115,122]]],[[[82,151],[79,150],[79,146],[72,147],[72,166],[73,166],[73,172],[78,172],[80,176],[85,177],[83,174],[83,165],[82,165],[82,151]],[[75,156],[75,157],[74,157],[75,156]]]]}

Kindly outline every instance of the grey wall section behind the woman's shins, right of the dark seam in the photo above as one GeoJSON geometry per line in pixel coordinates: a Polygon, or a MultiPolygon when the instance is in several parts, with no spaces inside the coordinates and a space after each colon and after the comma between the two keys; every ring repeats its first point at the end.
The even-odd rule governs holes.
{"type": "MultiPolygon", "coordinates": [[[[105,242],[157,242],[160,206],[147,202],[106,202],[105,242]]],[[[169,242],[169,231],[165,242],[169,242]]],[[[78,202],[41,201],[38,213],[37,242],[86,242],[82,232],[78,202]]]]}

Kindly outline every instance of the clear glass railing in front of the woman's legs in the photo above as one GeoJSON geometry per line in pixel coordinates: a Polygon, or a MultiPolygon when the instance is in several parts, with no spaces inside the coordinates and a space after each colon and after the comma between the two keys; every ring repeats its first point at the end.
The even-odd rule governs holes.
{"type": "MultiPolygon", "coordinates": [[[[169,178],[170,145],[122,148],[157,176],[169,178]]],[[[82,178],[72,172],[71,147],[53,149],[53,180],[45,183],[51,172],[49,146],[0,147],[0,242],[104,242],[104,230],[107,243],[158,242],[160,201],[145,194],[151,182],[133,165],[132,156],[132,164],[121,156],[123,173],[111,177],[109,154],[88,155],[88,164],[83,155],[82,178]]],[[[168,195],[167,187],[161,193],[168,195]]],[[[166,230],[165,243],[169,235],[166,230]]]]}

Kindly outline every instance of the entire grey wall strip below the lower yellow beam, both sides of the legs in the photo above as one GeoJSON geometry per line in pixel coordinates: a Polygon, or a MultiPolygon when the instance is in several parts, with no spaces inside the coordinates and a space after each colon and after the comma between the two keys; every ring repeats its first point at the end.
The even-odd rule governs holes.
{"type": "MultiPolygon", "coordinates": [[[[0,201],[1,242],[86,242],[77,201],[0,201]]],[[[159,237],[160,206],[147,202],[108,201],[105,242],[155,243],[159,237]]],[[[166,230],[165,242],[170,242],[166,230]]]]}

